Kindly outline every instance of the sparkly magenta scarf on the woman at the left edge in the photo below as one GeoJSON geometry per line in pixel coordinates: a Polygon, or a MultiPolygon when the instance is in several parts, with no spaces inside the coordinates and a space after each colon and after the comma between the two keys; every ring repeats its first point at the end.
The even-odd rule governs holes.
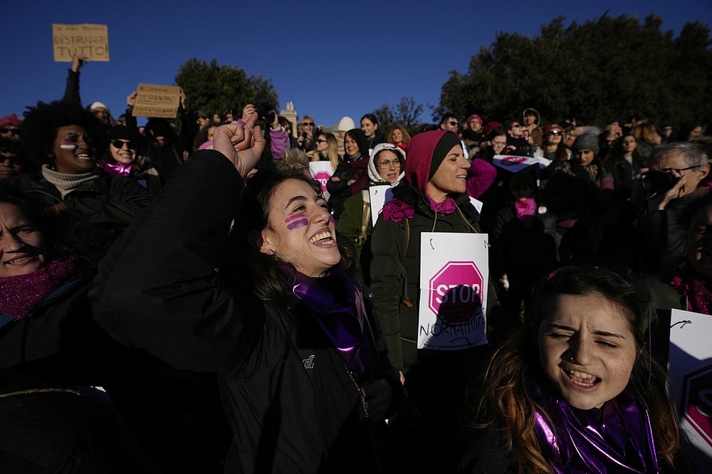
{"type": "Polygon", "coordinates": [[[21,320],[74,272],[73,257],[53,260],[25,275],[0,278],[0,313],[21,320]]]}

